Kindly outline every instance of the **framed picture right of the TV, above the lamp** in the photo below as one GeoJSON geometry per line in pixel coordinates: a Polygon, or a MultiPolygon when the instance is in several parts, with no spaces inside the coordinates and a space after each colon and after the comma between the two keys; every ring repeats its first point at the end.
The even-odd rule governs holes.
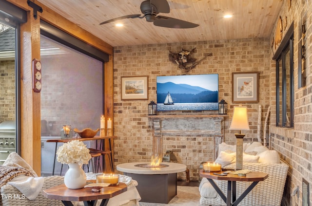
{"type": "Polygon", "coordinates": [[[259,102],[259,73],[232,73],[232,102],[259,102]]]}

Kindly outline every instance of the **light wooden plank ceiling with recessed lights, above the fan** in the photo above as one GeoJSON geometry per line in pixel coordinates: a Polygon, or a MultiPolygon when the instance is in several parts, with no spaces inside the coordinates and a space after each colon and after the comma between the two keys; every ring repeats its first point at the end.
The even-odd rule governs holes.
{"type": "MultiPolygon", "coordinates": [[[[168,0],[170,13],[158,15],[199,24],[192,29],[155,26],[144,19],[100,22],[141,14],[142,0],[38,0],[112,46],[270,37],[283,0],[168,0]],[[231,14],[233,18],[225,19],[231,14]],[[116,22],[117,23],[117,22],[116,22]]],[[[43,11],[44,12],[44,11],[43,11]]]]}

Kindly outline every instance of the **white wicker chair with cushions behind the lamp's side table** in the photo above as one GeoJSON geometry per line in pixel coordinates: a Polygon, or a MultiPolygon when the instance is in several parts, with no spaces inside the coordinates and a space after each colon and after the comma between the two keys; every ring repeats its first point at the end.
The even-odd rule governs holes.
{"type": "MultiPolygon", "coordinates": [[[[235,163],[227,168],[235,168],[235,163]]],[[[263,164],[263,163],[243,163],[244,169],[251,171],[261,171],[268,173],[266,180],[260,181],[254,189],[243,199],[239,206],[280,206],[284,192],[288,165],[263,164]]],[[[222,191],[227,190],[227,181],[216,181],[222,191]]],[[[249,183],[250,184],[250,183],[249,183]]],[[[245,182],[236,183],[237,197],[249,186],[245,182]]],[[[203,187],[201,187],[203,189],[203,187]]],[[[215,198],[200,197],[201,205],[226,205],[219,195],[215,198]]]]}

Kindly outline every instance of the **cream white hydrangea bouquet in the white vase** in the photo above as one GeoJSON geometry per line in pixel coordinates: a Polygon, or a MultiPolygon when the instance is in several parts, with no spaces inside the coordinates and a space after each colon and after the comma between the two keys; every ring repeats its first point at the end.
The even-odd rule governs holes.
{"type": "Polygon", "coordinates": [[[58,162],[62,164],[78,163],[87,164],[91,159],[90,150],[83,142],[73,140],[64,143],[57,151],[58,162]]]}

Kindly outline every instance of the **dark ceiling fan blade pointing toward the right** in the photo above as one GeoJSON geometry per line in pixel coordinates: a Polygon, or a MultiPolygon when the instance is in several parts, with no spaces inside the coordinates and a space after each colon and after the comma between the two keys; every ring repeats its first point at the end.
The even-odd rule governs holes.
{"type": "Polygon", "coordinates": [[[164,16],[157,16],[156,19],[154,20],[154,25],[176,29],[188,29],[199,26],[199,24],[164,16]]]}

